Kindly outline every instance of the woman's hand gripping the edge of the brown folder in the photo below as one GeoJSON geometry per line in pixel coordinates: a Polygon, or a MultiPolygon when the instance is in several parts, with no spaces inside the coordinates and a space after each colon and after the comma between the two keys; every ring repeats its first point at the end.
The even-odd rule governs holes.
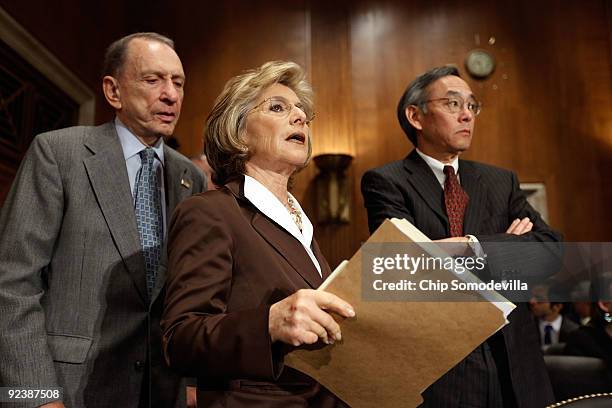
{"type": "Polygon", "coordinates": [[[270,307],[268,330],[272,342],[293,346],[313,344],[321,339],[332,344],[342,339],[340,326],[329,312],[355,316],[353,307],[331,293],[300,289],[270,307]]]}

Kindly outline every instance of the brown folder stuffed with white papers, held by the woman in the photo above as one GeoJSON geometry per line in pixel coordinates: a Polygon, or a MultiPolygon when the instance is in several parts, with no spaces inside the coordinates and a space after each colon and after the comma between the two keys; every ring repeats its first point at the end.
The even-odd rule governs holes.
{"type": "MultiPolygon", "coordinates": [[[[398,221],[385,221],[368,242],[429,241],[407,221],[398,221]]],[[[448,271],[433,277],[456,278],[448,271]]],[[[285,357],[285,364],[310,375],[354,408],[418,406],[421,393],[502,328],[514,308],[495,293],[481,300],[490,297],[496,304],[364,301],[361,279],[360,250],[320,288],[355,308],[357,316],[341,323],[342,342],[319,350],[298,349],[285,357]]],[[[466,299],[473,300],[474,294],[466,299]]]]}

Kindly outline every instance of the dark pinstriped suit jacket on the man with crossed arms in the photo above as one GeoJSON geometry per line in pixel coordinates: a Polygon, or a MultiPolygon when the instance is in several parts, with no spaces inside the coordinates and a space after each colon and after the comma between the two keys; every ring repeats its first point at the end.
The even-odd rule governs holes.
{"type": "MultiPolygon", "coordinates": [[[[527,203],[512,172],[460,160],[459,176],[469,196],[464,233],[475,235],[485,252],[489,241],[559,241],[559,234],[527,203]],[[523,217],[533,222],[532,232],[521,236],[503,233],[512,220],[523,217]]],[[[404,160],[366,172],[361,188],[370,231],[385,219],[395,217],[407,219],[433,240],[450,235],[444,191],[416,150],[404,160]]],[[[519,304],[509,320],[510,324],[502,329],[501,347],[492,346],[494,356],[501,355],[499,361],[507,359],[509,365],[509,370],[504,370],[504,364],[500,364],[500,370],[505,371],[500,375],[508,377],[520,407],[552,403],[552,389],[526,304],[519,304]]],[[[430,387],[442,396],[443,406],[455,406],[461,390],[469,387],[470,379],[464,369],[459,364],[430,387]]]]}

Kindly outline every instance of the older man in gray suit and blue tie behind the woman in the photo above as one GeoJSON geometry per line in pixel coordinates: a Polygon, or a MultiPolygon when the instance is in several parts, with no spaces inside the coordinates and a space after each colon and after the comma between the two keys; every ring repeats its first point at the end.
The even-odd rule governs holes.
{"type": "Polygon", "coordinates": [[[164,145],[185,75],[172,40],[137,33],[106,53],[114,121],[38,135],[0,215],[0,382],[63,388],[15,407],[174,407],[160,352],[166,219],[205,190],[164,145]]]}

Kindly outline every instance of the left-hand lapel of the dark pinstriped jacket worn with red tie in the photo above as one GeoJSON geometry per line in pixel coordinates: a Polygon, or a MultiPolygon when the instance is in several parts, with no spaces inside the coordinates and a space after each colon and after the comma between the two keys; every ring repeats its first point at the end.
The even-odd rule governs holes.
{"type": "Polygon", "coordinates": [[[404,167],[409,173],[408,182],[412,184],[423,201],[431,208],[448,229],[448,217],[443,207],[444,190],[427,163],[419,156],[416,149],[404,159],[404,167]]]}

